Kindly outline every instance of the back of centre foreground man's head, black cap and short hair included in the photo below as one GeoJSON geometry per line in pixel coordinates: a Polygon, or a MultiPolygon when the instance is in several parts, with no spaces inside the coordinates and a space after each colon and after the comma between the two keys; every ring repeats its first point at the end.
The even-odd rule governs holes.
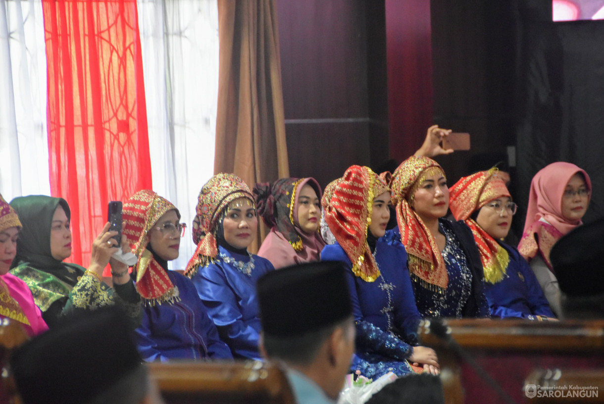
{"type": "Polygon", "coordinates": [[[269,358],[306,365],[335,327],[350,321],[345,269],[335,261],[272,271],[257,283],[263,344],[269,358]]]}

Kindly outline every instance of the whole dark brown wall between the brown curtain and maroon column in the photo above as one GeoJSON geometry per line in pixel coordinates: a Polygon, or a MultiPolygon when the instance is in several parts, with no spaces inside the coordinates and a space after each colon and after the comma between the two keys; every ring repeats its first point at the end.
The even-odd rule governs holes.
{"type": "Polygon", "coordinates": [[[279,0],[277,8],[291,176],[325,187],[352,164],[384,162],[384,2],[279,0]]]}

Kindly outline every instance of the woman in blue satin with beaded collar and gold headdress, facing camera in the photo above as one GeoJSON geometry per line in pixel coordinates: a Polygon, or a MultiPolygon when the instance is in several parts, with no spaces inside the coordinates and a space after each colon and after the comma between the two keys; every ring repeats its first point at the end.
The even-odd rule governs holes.
{"type": "Polygon", "coordinates": [[[274,268],[248,252],[258,228],[254,196],[238,176],[220,173],[201,188],[196,211],[193,241],[198,246],[186,274],[233,356],[261,359],[255,283],[274,268]]]}

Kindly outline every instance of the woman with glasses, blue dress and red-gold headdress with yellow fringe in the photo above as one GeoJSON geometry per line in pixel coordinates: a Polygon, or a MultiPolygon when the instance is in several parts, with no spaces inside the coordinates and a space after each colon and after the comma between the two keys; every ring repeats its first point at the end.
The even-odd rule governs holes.
{"type": "Polygon", "coordinates": [[[463,177],[449,188],[451,213],[474,234],[484,268],[484,292],[493,317],[550,319],[541,286],[516,248],[503,243],[516,204],[496,168],[463,177]]]}

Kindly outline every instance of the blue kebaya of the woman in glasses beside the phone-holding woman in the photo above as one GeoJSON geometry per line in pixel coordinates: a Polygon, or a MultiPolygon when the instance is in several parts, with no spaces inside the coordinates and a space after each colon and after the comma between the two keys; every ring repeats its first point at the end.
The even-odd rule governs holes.
{"type": "Polygon", "coordinates": [[[143,359],[232,359],[193,283],[178,272],[167,271],[167,274],[178,288],[180,300],[144,308],[142,324],[136,330],[143,359]]]}

